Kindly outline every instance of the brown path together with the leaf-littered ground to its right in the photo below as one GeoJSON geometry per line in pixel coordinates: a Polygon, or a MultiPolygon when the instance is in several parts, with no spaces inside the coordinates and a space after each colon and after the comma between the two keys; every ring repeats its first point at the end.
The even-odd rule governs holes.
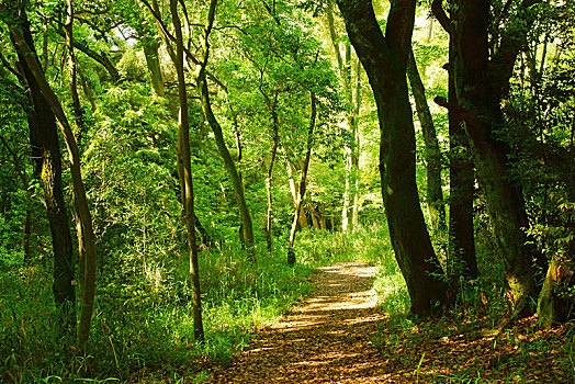
{"type": "MultiPolygon", "coordinates": [[[[406,327],[376,308],[377,268],[320,268],[313,293],[260,329],[212,383],[575,383],[572,325],[521,321],[495,337],[481,318],[443,317],[406,327]],[[439,323],[438,323],[439,321],[439,323]]],[[[205,372],[205,371],[204,371],[205,372]]]]}

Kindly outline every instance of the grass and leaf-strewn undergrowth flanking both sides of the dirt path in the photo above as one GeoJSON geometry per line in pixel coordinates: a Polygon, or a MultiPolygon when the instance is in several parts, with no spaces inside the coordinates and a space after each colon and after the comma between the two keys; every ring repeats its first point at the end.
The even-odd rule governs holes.
{"type": "Polygon", "coordinates": [[[234,246],[203,250],[203,345],[193,341],[185,260],[116,273],[112,271],[117,266],[104,268],[87,357],[63,347],[74,342],[55,332],[48,268],[38,263],[4,271],[0,274],[0,381],[202,382],[208,379],[206,364],[228,364],[234,353],[249,346],[251,331],[278,320],[309,292],[316,267],[340,261],[379,267],[374,289],[381,310],[388,316],[372,342],[413,382],[530,382],[539,377],[537,372],[542,371],[537,368],[545,362],[553,363],[550,382],[575,376],[570,376],[575,372],[572,325],[542,331],[531,319],[494,337],[509,303],[500,278],[489,274],[493,260],[481,249],[484,276],[461,286],[454,308],[428,320],[407,315],[407,290],[385,228],[348,235],[304,230],[296,252],[297,263],[290,268],[285,249],[279,246],[272,253],[259,250],[256,264],[234,246]],[[447,358],[437,358],[442,350],[447,358]]]}

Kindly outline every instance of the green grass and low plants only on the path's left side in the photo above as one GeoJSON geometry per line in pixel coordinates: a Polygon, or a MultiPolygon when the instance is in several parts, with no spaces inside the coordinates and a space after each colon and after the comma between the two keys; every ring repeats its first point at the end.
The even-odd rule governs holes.
{"type": "Polygon", "coordinates": [[[229,362],[248,346],[249,331],[275,321],[308,292],[312,272],[309,264],[285,266],[283,251],[260,264],[245,261],[241,252],[232,246],[201,253],[205,345],[193,341],[191,284],[177,258],[170,268],[149,266],[146,275],[129,281],[109,276],[106,285],[100,284],[90,355],[81,361],[50,326],[55,313],[47,271],[35,267],[3,274],[0,380],[31,383],[58,376],[67,382],[82,377],[75,373],[82,366],[91,377],[125,380],[142,369],[178,366],[202,357],[229,362]]]}

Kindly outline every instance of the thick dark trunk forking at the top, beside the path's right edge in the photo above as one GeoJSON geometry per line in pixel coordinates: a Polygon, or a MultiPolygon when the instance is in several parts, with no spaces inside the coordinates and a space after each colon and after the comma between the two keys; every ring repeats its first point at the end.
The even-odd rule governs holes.
{"type": "Polygon", "coordinates": [[[415,0],[394,0],[385,37],[371,1],[338,0],[349,38],[377,105],[382,195],[395,257],[411,298],[410,312],[426,316],[447,300],[447,284],[431,246],[415,180],[415,129],[406,65],[415,0]]]}

